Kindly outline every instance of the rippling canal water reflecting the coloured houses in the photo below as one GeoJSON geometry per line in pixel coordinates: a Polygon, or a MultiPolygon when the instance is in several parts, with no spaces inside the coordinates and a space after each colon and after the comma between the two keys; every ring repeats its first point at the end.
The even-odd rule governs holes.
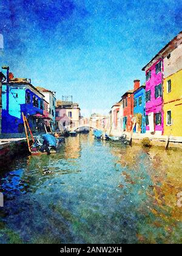
{"type": "Polygon", "coordinates": [[[0,172],[0,243],[181,243],[181,151],[67,138],[0,172]]]}

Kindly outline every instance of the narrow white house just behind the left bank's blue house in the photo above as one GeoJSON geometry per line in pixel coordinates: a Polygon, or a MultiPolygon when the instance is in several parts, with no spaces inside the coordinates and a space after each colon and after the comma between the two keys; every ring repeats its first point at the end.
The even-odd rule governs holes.
{"type": "Polygon", "coordinates": [[[48,111],[49,111],[49,118],[50,118],[50,126],[52,130],[55,130],[56,124],[56,97],[53,91],[47,90],[43,87],[36,87],[45,97],[45,101],[48,102],[48,111]]]}

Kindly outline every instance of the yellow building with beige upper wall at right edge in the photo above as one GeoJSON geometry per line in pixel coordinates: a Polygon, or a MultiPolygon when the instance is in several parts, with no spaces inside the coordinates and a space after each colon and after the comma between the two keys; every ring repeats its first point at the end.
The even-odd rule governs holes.
{"type": "Polygon", "coordinates": [[[182,33],[164,57],[164,135],[182,137],[182,33]]]}

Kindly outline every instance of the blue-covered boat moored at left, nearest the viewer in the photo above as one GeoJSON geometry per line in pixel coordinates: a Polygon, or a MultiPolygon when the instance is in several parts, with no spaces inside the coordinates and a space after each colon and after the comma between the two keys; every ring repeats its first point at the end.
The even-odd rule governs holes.
{"type": "Polygon", "coordinates": [[[51,134],[42,134],[34,137],[34,142],[30,147],[31,154],[53,154],[61,146],[61,143],[64,142],[61,138],[55,138],[51,134]]]}

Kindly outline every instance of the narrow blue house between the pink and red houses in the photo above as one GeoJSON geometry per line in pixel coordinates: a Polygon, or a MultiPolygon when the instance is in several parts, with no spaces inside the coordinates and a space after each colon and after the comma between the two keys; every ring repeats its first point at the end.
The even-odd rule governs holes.
{"type": "MultiPolygon", "coordinates": [[[[133,115],[141,114],[141,133],[146,132],[146,90],[145,85],[142,85],[134,91],[134,105],[133,105],[133,115]]],[[[138,132],[135,126],[134,132],[138,132]]]]}

